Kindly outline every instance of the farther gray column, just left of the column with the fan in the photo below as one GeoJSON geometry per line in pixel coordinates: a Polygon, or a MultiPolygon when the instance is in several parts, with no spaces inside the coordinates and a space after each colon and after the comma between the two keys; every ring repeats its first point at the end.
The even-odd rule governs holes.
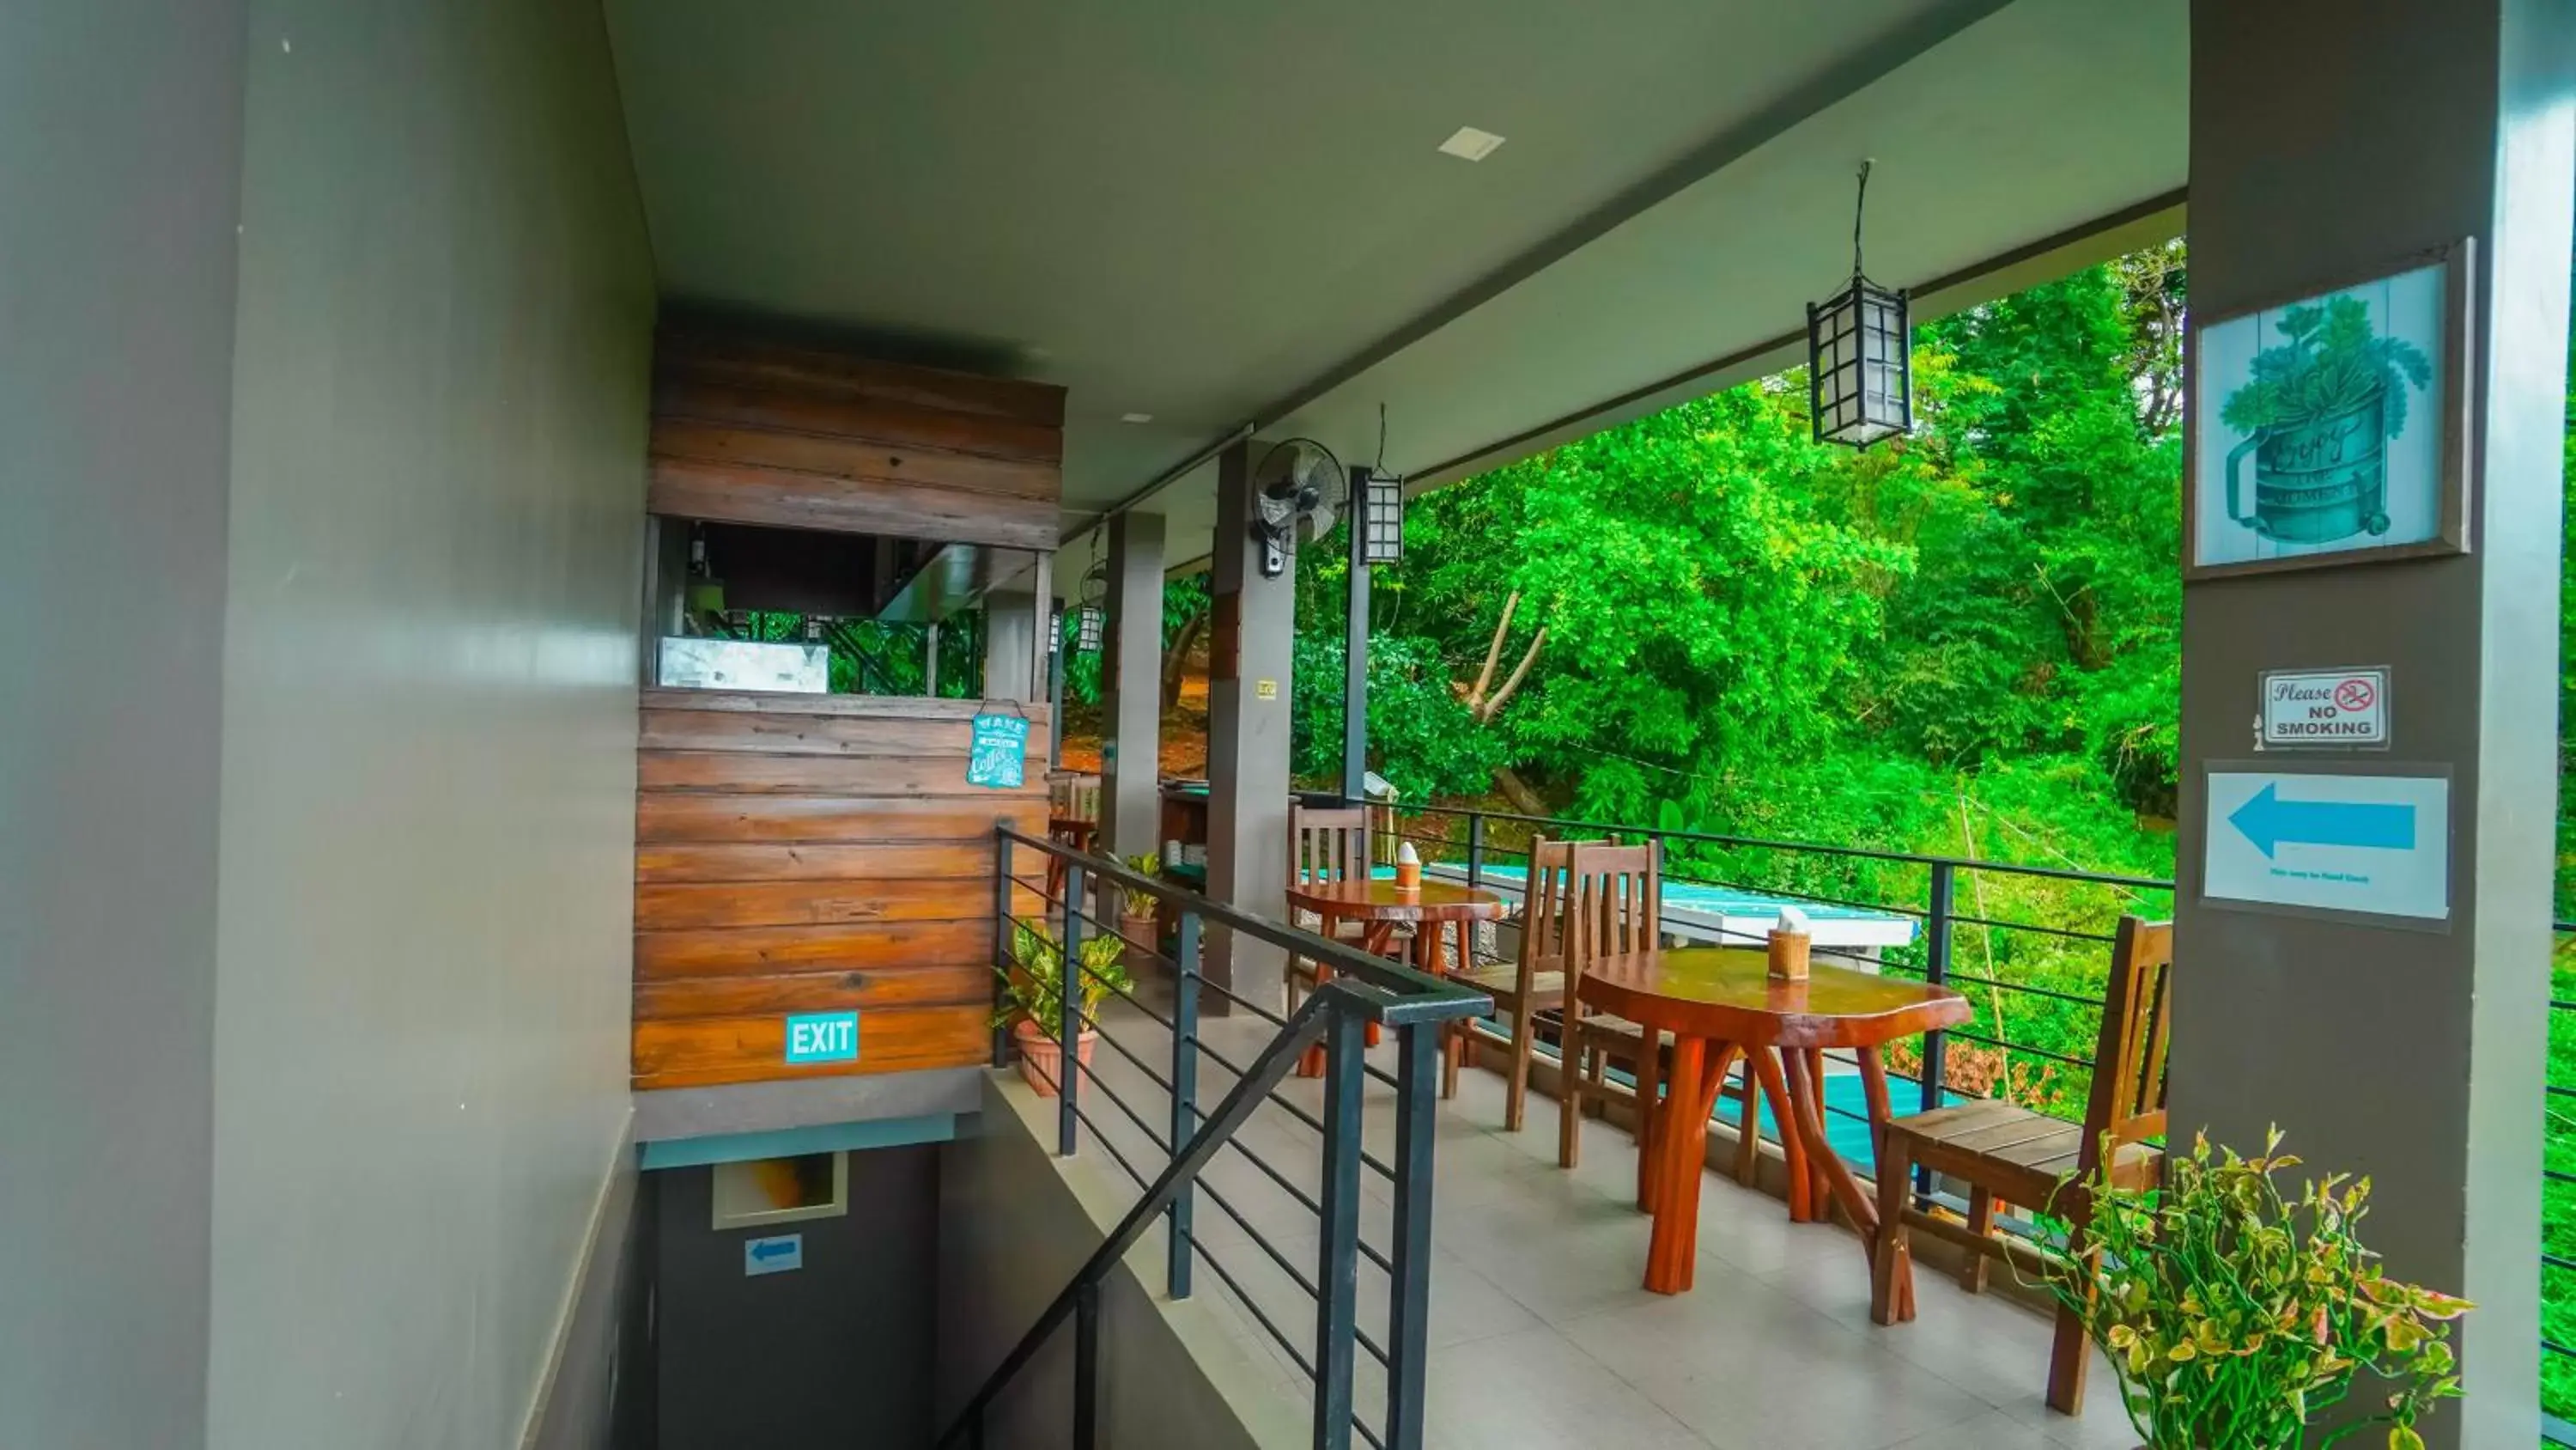
{"type": "Polygon", "coordinates": [[[1100,842],[1162,850],[1162,515],[1121,513],[1110,531],[1108,654],[1100,662],[1100,842]]]}

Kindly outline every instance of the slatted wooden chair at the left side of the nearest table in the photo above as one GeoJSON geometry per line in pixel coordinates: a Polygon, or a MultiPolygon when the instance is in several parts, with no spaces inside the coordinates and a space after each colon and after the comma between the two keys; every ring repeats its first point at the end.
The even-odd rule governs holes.
{"type": "Polygon", "coordinates": [[[1636,1071],[1638,1203],[1646,1200],[1646,1133],[1664,1095],[1664,1033],[1625,1017],[1584,1012],[1584,963],[1597,956],[1651,950],[1664,932],[1664,847],[1582,842],[1566,868],[1566,953],[1558,1028],[1556,1164],[1582,1159],[1584,1092],[1600,1092],[1610,1061],[1636,1071]]]}

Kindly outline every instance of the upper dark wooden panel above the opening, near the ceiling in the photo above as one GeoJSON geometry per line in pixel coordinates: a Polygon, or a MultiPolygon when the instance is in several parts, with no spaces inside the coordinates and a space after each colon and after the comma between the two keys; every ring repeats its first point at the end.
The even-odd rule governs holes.
{"type": "Polygon", "coordinates": [[[1056,546],[1064,389],[665,332],[652,513],[1056,546]]]}

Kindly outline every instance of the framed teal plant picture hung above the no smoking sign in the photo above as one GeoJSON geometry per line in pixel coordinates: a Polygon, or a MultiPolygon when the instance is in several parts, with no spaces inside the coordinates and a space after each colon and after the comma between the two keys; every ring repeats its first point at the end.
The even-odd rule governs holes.
{"type": "Polygon", "coordinates": [[[2470,247],[2195,319],[2184,579],[2468,551],[2470,247]]]}

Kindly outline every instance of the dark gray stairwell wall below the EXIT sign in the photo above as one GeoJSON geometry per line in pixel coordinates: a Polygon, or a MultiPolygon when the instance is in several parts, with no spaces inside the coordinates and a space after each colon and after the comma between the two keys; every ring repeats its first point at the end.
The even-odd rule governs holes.
{"type": "MultiPolygon", "coordinates": [[[[940,1151],[850,1154],[850,1213],[711,1226],[714,1169],[649,1174],[667,1450],[930,1445],[940,1151]],[[804,1234],[804,1267],[747,1277],[742,1244],[804,1234]]],[[[623,1447],[621,1447],[623,1450],[623,1447]]]]}

